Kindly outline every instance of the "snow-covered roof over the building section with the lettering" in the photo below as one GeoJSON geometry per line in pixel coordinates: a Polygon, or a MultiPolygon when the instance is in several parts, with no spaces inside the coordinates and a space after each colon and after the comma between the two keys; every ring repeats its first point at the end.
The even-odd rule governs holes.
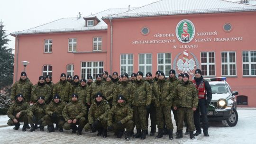
{"type": "Polygon", "coordinates": [[[220,13],[236,11],[256,11],[255,0],[249,3],[232,2],[229,0],[159,0],[148,5],[110,15],[103,19],[112,18],[136,18],[163,15],[220,13]]]}

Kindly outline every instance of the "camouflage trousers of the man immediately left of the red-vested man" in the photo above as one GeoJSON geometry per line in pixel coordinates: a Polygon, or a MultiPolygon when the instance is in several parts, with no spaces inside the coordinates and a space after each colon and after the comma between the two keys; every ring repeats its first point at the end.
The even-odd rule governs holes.
{"type": "Polygon", "coordinates": [[[183,108],[183,107],[177,108],[177,116],[178,116],[177,130],[182,130],[183,121],[184,121],[184,118],[186,118],[188,131],[194,131],[195,125],[194,125],[193,114],[194,114],[194,112],[193,112],[192,108],[183,108]]]}

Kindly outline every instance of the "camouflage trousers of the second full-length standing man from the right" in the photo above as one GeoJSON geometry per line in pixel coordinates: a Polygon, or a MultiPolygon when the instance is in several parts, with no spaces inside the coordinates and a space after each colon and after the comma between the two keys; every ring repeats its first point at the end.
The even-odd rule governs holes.
{"type": "Polygon", "coordinates": [[[164,122],[167,129],[174,129],[172,122],[171,107],[159,106],[156,108],[157,128],[164,128],[164,122]]]}

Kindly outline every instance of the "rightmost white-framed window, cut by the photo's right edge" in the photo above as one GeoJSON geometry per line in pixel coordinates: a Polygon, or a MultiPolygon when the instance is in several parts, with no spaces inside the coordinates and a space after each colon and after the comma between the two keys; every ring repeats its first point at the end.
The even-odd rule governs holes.
{"type": "Polygon", "coordinates": [[[243,75],[256,76],[256,51],[243,51],[243,75]]]}

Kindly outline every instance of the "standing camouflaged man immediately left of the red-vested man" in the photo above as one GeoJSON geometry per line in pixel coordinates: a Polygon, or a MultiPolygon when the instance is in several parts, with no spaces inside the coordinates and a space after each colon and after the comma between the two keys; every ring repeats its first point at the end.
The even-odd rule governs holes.
{"type": "Polygon", "coordinates": [[[187,119],[187,126],[189,129],[189,135],[191,139],[194,139],[193,131],[195,130],[193,111],[196,110],[198,105],[198,92],[191,81],[189,81],[189,75],[184,73],[183,80],[175,89],[175,101],[174,109],[177,109],[178,116],[178,135],[176,138],[183,137],[183,121],[184,117],[187,119]]]}

